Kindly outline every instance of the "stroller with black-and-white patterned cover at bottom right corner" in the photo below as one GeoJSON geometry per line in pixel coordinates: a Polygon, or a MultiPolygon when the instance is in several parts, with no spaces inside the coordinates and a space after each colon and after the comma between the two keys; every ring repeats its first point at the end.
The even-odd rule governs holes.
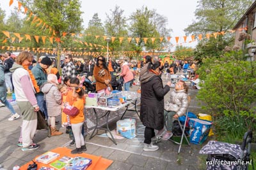
{"type": "MultiPolygon", "coordinates": [[[[242,145],[209,141],[199,153],[208,154],[206,159],[207,170],[210,169],[248,169],[253,162],[250,159],[252,131],[244,134],[242,145]],[[246,145],[248,147],[246,148],[246,145]]],[[[253,167],[254,169],[254,167],[253,167]]]]}

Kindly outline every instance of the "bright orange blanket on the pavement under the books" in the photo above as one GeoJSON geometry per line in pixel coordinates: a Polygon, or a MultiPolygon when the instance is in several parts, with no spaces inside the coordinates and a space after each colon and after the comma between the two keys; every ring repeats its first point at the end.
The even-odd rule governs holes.
{"type": "MultiPolygon", "coordinates": [[[[85,158],[88,158],[88,159],[92,159],[92,164],[88,167],[88,170],[93,170],[93,169],[104,170],[104,169],[107,169],[113,162],[113,160],[104,159],[102,157],[97,157],[95,155],[90,155],[88,153],[71,154],[70,153],[71,150],[68,149],[68,148],[65,148],[65,147],[55,148],[55,149],[50,150],[50,151],[60,153],[60,157],[58,157],[56,160],[58,160],[58,159],[60,159],[61,157],[64,157],[64,156],[68,156],[68,157],[77,157],[77,156],[79,156],[79,157],[85,157],[85,158]]],[[[36,156],[36,157],[38,157],[38,156],[36,156]]],[[[52,161],[52,162],[54,162],[54,161],[52,161]]],[[[24,166],[20,167],[20,170],[28,169],[29,164],[33,164],[33,162],[32,161],[28,162],[24,166]]],[[[51,167],[51,166],[49,166],[49,164],[51,164],[51,162],[49,164],[43,164],[43,163],[36,162],[36,164],[38,166],[37,169],[39,169],[42,166],[51,167]]]]}

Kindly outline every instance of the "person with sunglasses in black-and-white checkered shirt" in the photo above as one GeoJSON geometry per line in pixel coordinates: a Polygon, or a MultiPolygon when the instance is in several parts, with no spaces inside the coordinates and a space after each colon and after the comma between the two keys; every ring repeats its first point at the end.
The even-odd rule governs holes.
{"type": "Polygon", "coordinates": [[[65,66],[62,68],[61,84],[64,83],[66,76],[76,77],[76,66],[73,64],[73,57],[71,54],[65,56],[65,66]]]}

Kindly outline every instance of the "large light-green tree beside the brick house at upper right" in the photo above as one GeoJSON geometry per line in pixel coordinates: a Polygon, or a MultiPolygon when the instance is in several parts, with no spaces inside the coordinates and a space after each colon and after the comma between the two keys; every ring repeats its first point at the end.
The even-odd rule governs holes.
{"type": "MultiPolygon", "coordinates": [[[[195,35],[227,32],[234,27],[251,4],[250,0],[200,0],[195,11],[196,21],[188,25],[184,31],[186,34],[195,35]]],[[[228,34],[219,35],[216,39],[211,37],[210,40],[199,43],[196,55],[200,53],[203,56],[213,57],[212,52],[223,53],[225,46],[232,43],[234,38],[228,34]]]]}

